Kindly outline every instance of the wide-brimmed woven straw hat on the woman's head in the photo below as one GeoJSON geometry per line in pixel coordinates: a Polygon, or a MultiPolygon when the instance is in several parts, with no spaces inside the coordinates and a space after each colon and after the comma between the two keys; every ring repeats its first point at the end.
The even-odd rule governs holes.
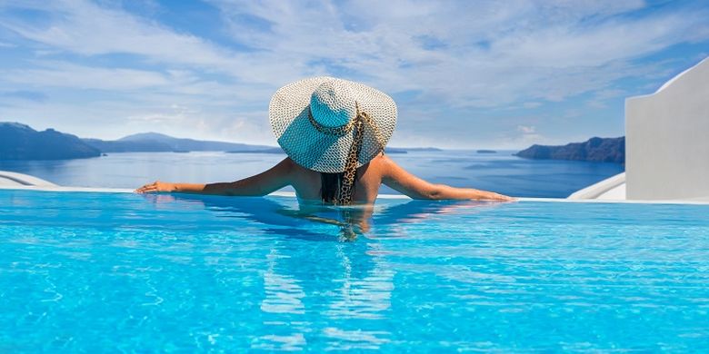
{"type": "Polygon", "coordinates": [[[346,174],[348,164],[370,162],[396,125],[396,104],[387,94],[327,76],[281,87],[268,114],[285,153],[316,172],[346,174]]]}

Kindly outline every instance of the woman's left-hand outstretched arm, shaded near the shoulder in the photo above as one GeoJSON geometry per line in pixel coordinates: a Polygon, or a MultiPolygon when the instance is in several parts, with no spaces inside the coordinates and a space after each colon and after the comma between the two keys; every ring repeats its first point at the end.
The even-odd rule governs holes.
{"type": "Polygon", "coordinates": [[[285,158],[271,169],[236,182],[218,183],[170,183],[153,182],[145,184],[135,192],[182,192],[197,194],[217,194],[234,196],[261,196],[275,192],[290,184],[293,163],[285,158]]]}

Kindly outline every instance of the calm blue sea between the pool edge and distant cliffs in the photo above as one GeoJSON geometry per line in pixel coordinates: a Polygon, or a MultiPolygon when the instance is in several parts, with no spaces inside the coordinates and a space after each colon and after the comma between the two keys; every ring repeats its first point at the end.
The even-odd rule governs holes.
{"type": "MultiPolygon", "coordinates": [[[[516,157],[514,152],[411,150],[389,153],[389,157],[429,182],[515,197],[565,198],[624,171],[617,163],[530,160],[516,157]]],[[[0,161],[0,170],[34,175],[63,186],[135,189],[156,180],[236,181],[263,172],[284,158],[285,154],[263,152],[115,152],[90,159],[0,161]]],[[[380,192],[395,193],[385,186],[380,192]]]]}

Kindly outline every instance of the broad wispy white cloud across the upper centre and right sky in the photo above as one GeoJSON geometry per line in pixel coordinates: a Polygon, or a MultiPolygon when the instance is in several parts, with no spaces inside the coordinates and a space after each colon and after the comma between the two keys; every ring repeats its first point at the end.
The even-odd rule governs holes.
{"type": "Polygon", "coordinates": [[[389,92],[422,90],[460,107],[560,101],[603,89],[637,72],[633,59],[707,27],[705,14],[693,13],[584,25],[642,7],[640,1],[216,4],[233,18],[238,40],[287,62],[327,61],[389,92]],[[244,15],[261,19],[266,29],[249,30],[244,15]],[[426,50],[421,36],[443,45],[426,50]]]}

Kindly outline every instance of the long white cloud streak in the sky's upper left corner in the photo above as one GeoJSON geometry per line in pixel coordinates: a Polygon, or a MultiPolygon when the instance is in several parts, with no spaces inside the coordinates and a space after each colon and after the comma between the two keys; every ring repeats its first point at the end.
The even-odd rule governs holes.
{"type": "Polygon", "coordinates": [[[27,39],[77,54],[140,54],[175,64],[223,65],[229,53],[204,39],[177,34],[119,9],[87,1],[27,3],[51,14],[50,24],[3,18],[0,24],[27,39]]]}

